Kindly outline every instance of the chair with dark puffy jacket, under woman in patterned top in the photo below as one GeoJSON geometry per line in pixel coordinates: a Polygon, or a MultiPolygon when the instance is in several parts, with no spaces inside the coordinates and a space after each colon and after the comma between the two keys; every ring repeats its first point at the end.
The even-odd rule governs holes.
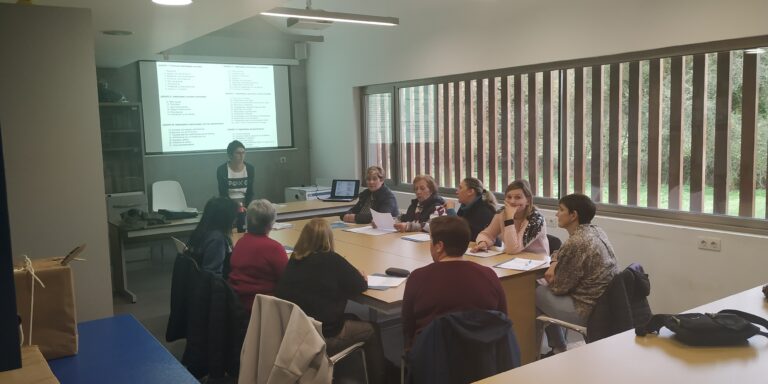
{"type": "Polygon", "coordinates": [[[585,342],[591,343],[648,322],[651,318],[647,298],[650,292],[648,274],[640,264],[632,263],[614,276],[600,295],[586,327],[546,315],[538,316],[536,320],[576,331],[584,336],[585,342]]]}

